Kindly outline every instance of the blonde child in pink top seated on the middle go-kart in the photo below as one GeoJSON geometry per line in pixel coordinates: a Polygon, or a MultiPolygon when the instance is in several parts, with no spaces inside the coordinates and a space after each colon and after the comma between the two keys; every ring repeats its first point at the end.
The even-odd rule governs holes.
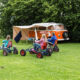
{"type": "Polygon", "coordinates": [[[37,48],[44,49],[44,46],[47,45],[46,42],[47,42],[46,35],[45,35],[45,34],[42,34],[41,39],[35,41],[35,43],[34,43],[34,49],[35,49],[35,50],[36,50],[37,48]]]}

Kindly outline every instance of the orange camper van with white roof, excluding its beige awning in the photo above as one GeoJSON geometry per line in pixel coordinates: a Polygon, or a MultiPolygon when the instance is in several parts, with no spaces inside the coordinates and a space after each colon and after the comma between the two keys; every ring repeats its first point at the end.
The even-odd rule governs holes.
{"type": "Polygon", "coordinates": [[[34,27],[29,29],[29,38],[34,38],[37,35],[37,38],[40,39],[43,33],[49,37],[54,32],[58,41],[69,40],[68,30],[62,23],[36,23],[32,26],[34,27]],[[36,34],[34,28],[36,28],[36,34]]]}

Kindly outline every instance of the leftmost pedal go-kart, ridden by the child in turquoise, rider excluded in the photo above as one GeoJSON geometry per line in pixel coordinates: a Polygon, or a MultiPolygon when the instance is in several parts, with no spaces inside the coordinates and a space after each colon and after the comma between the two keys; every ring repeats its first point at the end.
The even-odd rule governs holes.
{"type": "Polygon", "coordinates": [[[12,47],[12,41],[8,42],[7,47],[4,47],[5,43],[3,43],[3,46],[0,47],[0,50],[3,50],[3,55],[7,56],[9,53],[18,54],[18,50],[16,47],[12,47]]]}

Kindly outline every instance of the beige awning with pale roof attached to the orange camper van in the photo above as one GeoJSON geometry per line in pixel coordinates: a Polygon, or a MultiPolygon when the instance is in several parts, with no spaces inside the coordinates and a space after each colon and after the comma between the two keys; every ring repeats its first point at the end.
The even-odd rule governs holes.
{"type": "MultiPolygon", "coordinates": [[[[13,26],[13,39],[17,36],[17,34],[21,31],[22,37],[21,40],[28,40],[28,38],[30,37],[29,35],[35,35],[35,38],[37,39],[37,31],[36,28],[38,27],[42,27],[42,28],[48,28],[49,26],[54,26],[56,27],[56,25],[63,25],[61,23],[35,23],[29,26],[13,26]],[[33,30],[34,32],[30,32],[30,30],[33,30]]],[[[45,30],[46,30],[45,29],[45,30]]],[[[44,31],[45,31],[44,30],[44,31]]]]}

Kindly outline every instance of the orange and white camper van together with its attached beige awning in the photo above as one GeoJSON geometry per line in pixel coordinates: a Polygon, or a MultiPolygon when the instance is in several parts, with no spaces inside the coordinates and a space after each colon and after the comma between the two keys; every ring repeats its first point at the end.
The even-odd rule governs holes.
{"type": "Polygon", "coordinates": [[[69,40],[68,30],[62,23],[35,23],[29,26],[13,26],[13,39],[21,31],[21,40],[40,39],[42,34],[47,38],[54,32],[58,41],[69,40]]]}

